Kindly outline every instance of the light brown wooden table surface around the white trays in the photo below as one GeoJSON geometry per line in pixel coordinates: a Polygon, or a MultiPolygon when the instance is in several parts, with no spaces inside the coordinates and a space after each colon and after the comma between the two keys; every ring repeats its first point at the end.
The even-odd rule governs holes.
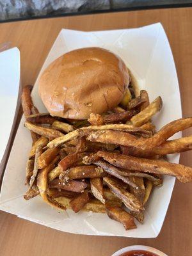
{"type": "MultiPolygon", "coordinates": [[[[22,84],[36,76],[61,28],[84,31],[137,28],[161,22],[172,47],[179,77],[183,116],[192,116],[192,9],[175,8],[104,13],[0,24],[0,44],[20,49],[22,84]]],[[[189,132],[184,132],[184,135],[189,132]]],[[[180,163],[192,166],[192,153],[180,163]]],[[[0,211],[0,255],[111,255],[132,244],[154,246],[169,256],[192,255],[192,186],[176,182],[161,233],[156,239],[98,237],[67,234],[0,211]]]]}

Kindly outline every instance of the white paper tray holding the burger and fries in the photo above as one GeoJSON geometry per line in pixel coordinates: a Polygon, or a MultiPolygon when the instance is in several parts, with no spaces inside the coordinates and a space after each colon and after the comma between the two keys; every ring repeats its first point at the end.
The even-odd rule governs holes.
{"type": "MultiPolygon", "coordinates": [[[[138,80],[140,89],[148,91],[150,100],[161,95],[163,109],[154,118],[157,129],[181,117],[175,64],[161,24],[138,29],[97,32],[62,29],[42,70],[65,52],[92,46],[104,47],[122,57],[138,80]]],[[[38,79],[32,95],[35,105],[40,111],[45,112],[45,107],[38,97],[38,79]]],[[[172,196],[175,182],[173,177],[165,177],[163,187],[154,189],[146,206],[145,223],[141,225],[137,222],[138,228],[129,231],[125,231],[120,223],[109,219],[106,214],[92,212],[75,214],[70,210],[59,213],[45,204],[40,197],[26,202],[22,195],[26,191],[25,167],[29,148],[31,148],[31,138],[23,124],[24,118],[19,125],[4,175],[0,209],[47,227],[77,234],[126,237],[156,237],[159,234],[172,196]]],[[[179,137],[180,133],[174,136],[174,138],[179,137]]],[[[170,161],[179,163],[179,154],[170,157],[170,161]]]]}

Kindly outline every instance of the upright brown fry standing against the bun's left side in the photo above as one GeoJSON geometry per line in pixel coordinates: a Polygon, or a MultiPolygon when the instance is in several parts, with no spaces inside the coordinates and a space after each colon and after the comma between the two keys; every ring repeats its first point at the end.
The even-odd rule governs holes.
{"type": "Polygon", "coordinates": [[[31,99],[32,88],[32,85],[26,85],[22,88],[21,104],[25,117],[31,115],[31,108],[33,108],[33,102],[31,99]]]}

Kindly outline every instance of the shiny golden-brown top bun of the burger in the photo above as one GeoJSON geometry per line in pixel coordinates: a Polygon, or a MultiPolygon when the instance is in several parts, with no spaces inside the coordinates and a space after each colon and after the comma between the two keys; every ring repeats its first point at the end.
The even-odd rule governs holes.
{"type": "Polygon", "coordinates": [[[39,94],[52,116],[86,119],[114,108],[129,84],[124,62],[102,48],[67,52],[39,79],[39,94]]]}

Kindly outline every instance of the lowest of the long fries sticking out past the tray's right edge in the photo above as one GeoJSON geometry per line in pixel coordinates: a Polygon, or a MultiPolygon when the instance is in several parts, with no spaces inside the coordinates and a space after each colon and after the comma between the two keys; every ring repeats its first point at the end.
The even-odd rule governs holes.
{"type": "Polygon", "coordinates": [[[192,181],[192,168],[182,164],[173,164],[161,160],[125,156],[110,152],[97,152],[109,163],[132,171],[156,173],[175,176],[180,182],[192,181]]]}

